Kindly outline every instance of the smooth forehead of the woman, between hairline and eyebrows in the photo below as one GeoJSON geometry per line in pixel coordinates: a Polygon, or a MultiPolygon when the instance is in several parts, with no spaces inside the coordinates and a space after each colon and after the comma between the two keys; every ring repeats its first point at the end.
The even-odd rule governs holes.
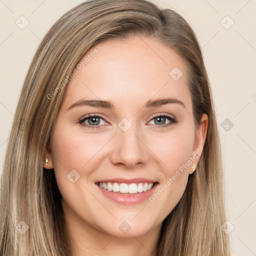
{"type": "Polygon", "coordinates": [[[93,45],[79,63],[65,88],[65,106],[82,98],[99,98],[116,107],[131,102],[139,107],[157,97],[175,97],[191,105],[185,62],[156,39],[134,36],[103,41],[93,45]]]}

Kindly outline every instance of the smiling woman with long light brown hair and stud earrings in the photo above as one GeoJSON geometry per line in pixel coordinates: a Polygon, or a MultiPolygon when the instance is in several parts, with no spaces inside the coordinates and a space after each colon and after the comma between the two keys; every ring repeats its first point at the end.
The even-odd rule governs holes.
{"type": "Polygon", "coordinates": [[[1,255],[229,255],[196,36],[145,0],[89,0],[41,41],[1,178],[1,255]]]}

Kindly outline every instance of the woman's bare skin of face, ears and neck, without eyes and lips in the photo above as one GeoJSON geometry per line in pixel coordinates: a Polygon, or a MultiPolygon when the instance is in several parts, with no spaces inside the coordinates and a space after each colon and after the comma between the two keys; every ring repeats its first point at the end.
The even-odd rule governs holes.
{"type": "MultiPolygon", "coordinates": [[[[101,194],[95,181],[143,177],[157,180],[161,187],[196,151],[202,152],[208,118],[203,114],[194,126],[185,64],[174,50],[138,36],[98,43],[85,55],[95,48],[99,52],[66,85],[50,147],[45,150],[45,167],[54,168],[64,219],[75,244],[73,255],[156,255],[161,223],[180,200],[192,165],[200,157],[154,202],[116,203],[101,194]],[[175,66],[183,73],[178,80],[169,75],[175,66]],[[143,107],[149,99],[165,97],[179,99],[185,107],[176,103],[143,107]],[[115,108],[67,110],[83,98],[109,100],[115,108]],[[105,119],[99,119],[99,128],[78,123],[92,113],[105,119]],[[178,121],[160,127],[171,121],[157,122],[158,113],[178,121]],[[123,118],[131,123],[126,131],[118,126],[123,118]],[[72,169],[80,175],[74,183],[66,176],[72,169]],[[123,221],[131,226],[126,234],[118,228],[123,221]]],[[[84,122],[88,121],[92,123],[91,119],[84,122]]]]}

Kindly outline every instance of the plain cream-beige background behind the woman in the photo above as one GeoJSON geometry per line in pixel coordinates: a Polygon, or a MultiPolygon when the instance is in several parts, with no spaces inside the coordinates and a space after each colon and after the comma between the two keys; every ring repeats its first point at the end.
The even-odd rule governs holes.
{"type": "MultiPolygon", "coordinates": [[[[213,91],[226,173],[229,222],[222,229],[231,236],[233,255],[256,255],[256,0],[152,1],[180,13],[199,39],[213,91]],[[226,118],[229,123],[223,123],[226,118]]],[[[32,56],[53,22],[81,2],[0,0],[0,174],[32,56]],[[21,15],[29,21],[24,29],[15,23],[21,15]]]]}

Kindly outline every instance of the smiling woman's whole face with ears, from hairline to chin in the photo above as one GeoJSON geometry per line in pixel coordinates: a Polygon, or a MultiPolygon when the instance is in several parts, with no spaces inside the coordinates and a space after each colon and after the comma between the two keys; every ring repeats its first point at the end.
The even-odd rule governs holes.
{"type": "Polygon", "coordinates": [[[185,64],[157,40],[104,41],[81,61],[88,54],[66,85],[47,166],[70,221],[114,236],[142,235],[180,200],[207,116],[194,127],[185,64]]]}

